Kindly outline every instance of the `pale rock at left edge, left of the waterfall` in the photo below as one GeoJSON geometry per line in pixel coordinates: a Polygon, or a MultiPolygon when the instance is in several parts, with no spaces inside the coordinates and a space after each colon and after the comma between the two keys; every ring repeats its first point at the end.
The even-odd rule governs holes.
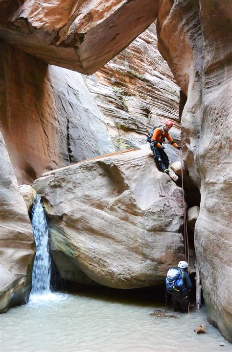
{"type": "Polygon", "coordinates": [[[35,254],[27,208],[0,133],[0,313],[26,303],[35,254]]]}

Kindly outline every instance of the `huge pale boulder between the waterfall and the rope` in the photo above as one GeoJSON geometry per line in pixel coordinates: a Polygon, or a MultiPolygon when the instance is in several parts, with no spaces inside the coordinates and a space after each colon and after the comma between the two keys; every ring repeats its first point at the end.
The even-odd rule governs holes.
{"type": "Polygon", "coordinates": [[[43,196],[51,255],[65,279],[83,282],[83,272],[84,282],[150,286],[183,259],[182,190],[149,150],[54,170],[33,187],[43,196]]]}

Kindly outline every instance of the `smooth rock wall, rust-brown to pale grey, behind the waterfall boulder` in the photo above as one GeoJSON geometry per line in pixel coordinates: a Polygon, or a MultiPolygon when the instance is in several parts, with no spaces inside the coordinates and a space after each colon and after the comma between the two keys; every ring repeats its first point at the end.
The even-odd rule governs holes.
{"type": "Polygon", "coordinates": [[[80,74],[1,47],[0,127],[19,183],[115,150],[80,74]]]}

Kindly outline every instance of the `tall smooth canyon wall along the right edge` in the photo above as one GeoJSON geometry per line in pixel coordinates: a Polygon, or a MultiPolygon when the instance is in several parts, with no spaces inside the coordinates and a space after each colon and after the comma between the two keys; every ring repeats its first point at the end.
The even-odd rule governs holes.
{"type": "Polygon", "coordinates": [[[160,6],[159,49],[187,97],[183,153],[201,192],[195,250],[208,318],[232,341],[232,2],[175,0],[160,6]]]}

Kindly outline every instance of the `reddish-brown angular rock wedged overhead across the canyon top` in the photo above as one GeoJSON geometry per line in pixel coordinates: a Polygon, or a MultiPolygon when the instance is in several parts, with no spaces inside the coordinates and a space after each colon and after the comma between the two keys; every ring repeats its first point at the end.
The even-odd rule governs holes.
{"type": "Polygon", "coordinates": [[[157,13],[158,0],[0,1],[0,37],[49,64],[92,74],[157,13]]]}

